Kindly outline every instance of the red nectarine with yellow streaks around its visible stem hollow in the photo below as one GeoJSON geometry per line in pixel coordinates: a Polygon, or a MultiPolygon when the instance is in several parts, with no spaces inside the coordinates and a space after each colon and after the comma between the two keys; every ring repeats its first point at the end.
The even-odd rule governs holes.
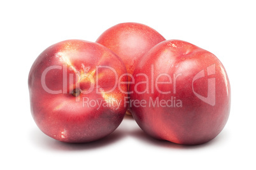
{"type": "MultiPolygon", "coordinates": [[[[127,95],[113,88],[115,74],[110,69],[96,71],[97,66],[115,69],[118,77],[127,73],[122,60],[96,42],[58,42],[36,58],[29,72],[29,93],[32,117],[43,133],[55,140],[83,143],[99,140],[119,126],[125,115],[127,95]],[[46,71],[51,67],[54,68],[46,71]],[[113,91],[106,93],[111,88],[113,91]],[[74,96],[74,89],[80,89],[80,95],[74,96]],[[98,107],[89,103],[93,100],[106,104],[113,101],[113,105],[98,107]],[[120,101],[120,106],[114,101],[120,101]]],[[[121,81],[127,81],[127,77],[121,81]]],[[[121,84],[120,88],[127,91],[127,85],[121,84]]]]}

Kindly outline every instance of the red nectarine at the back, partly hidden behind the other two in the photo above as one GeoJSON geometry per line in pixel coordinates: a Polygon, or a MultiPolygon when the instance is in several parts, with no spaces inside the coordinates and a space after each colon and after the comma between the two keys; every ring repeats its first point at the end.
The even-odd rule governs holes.
{"type": "MultiPolygon", "coordinates": [[[[133,74],[137,63],[153,46],[166,39],[156,30],[141,23],[119,23],[106,30],[96,42],[116,53],[124,62],[128,74],[133,74]]],[[[131,82],[131,76],[128,77],[131,82]]],[[[129,88],[129,85],[128,85],[129,88]]],[[[127,110],[131,114],[131,110],[127,110]]]]}

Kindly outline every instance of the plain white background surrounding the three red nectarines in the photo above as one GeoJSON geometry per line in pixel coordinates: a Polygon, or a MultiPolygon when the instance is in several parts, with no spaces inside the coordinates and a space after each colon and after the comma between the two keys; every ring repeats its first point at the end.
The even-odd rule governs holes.
{"type": "Polygon", "coordinates": [[[256,169],[256,10],[253,1],[1,1],[0,169],[256,169]],[[45,48],[96,41],[122,22],[211,51],[231,82],[231,114],[217,138],[192,147],[146,136],[129,117],[110,136],[71,145],[41,133],[27,78],[45,48]]]}

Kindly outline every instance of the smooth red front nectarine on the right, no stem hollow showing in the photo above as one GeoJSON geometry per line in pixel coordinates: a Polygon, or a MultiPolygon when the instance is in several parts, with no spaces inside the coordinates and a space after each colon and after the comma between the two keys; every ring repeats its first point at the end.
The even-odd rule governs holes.
{"type": "Polygon", "coordinates": [[[173,98],[173,103],[174,99],[176,103],[181,101],[178,102],[181,105],[175,107],[171,101],[169,105],[159,107],[132,104],[134,119],[150,136],[197,145],[212,140],[224,128],[231,108],[231,87],[224,66],[209,51],[180,40],[160,42],[143,56],[133,77],[131,100],[150,103],[157,98],[159,102],[173,98]],[[136,85],[146,81],[144,76],[136,76],[138,74],[148,75],[148,91],[145,91],[146,83],[136,85]],[[164,75],[160,76],[159,82],[170,83],[157,84],[157,90],[152,81],[156,81],[160,74],[164,75]],[[139,94],[141,92],[145,93],[139,94]],[[198,96],[203,96],[204,101],[198,96]]]}

